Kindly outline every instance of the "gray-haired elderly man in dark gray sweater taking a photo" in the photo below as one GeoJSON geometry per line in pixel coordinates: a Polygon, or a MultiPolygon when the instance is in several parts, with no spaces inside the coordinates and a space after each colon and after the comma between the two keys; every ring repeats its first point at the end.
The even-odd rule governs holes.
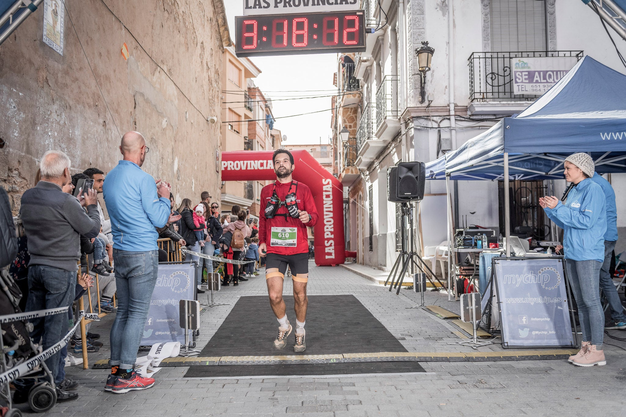
{"type": "MultiPolygon", "coordinates": [[[[31,254],[26,311],[69,306],[76,287],[80,236],[95,238],[100,232],[98,193],[89,189],[79,202],[72,194],[62,191],[71,182],[69,167],[69,158],[63,152],[44,153],[39,163],[41,181],[22,195],[19,213],[31,254]]],[[[43,348],[48,349],[66,333],[67,320],[67,314],[33,319],[31,338],[36,343],[43,339],[43,348]]],[[[46,364],[56,375],[59,353],[46,359],[46,364]]],[[[58,387],[56,391],[58,401],[78,397],[58,387]]]]}

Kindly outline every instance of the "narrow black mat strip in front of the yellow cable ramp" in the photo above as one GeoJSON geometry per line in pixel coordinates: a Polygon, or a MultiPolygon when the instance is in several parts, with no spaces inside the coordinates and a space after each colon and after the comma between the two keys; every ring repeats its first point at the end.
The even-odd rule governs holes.
{"type": "Polygon", "coordinates": [[[219,365],[192,366],[185,378],[225,378],[247,376],[314,376],[426,372],[418,362],[316,363],[310,365],[219,365]]]}

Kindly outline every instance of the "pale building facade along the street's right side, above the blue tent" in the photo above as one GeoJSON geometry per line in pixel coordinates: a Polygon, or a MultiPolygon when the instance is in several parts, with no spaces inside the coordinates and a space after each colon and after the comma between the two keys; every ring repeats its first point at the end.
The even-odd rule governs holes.
{"type": "MultiPolygon", "coordinates": [[[[346,249],[373,268],[390,269],[400,244],[399,204],[387,201],[387,169],[399,161],[433,161],[529,106],[538,96],[514,93],[512,61],[565,56],[575,64],[588,54],[625,72],[600,19],[582,2],[362,0],[361,8],[374,33],[366,34],[365,52],[337,63],[332,128],[346,190],[346,249]],[[434,54],[429,71],[420,73],[416,49],[424,42],[434,54]],[[347,141],[340,139],[344,127],[347,141]]],[[[611,181],[619,194],[622,175],[611,181]]],[[[453,183],[454,224],[503,226],[501,181],[453,183]]],[[[565,182],[553,185],[561,189],[565,182]]],[[[514,181],[512,195],[520,201],[513,204],[546,186],[514,181]]],[[[447,239],[446,198],[444,181],[426,181],[426,196],[414,209],[418,250],[447,239]]],[[[621,203],[618,197],[620,227],[626,226],[621,203]]],[[[538,204],[526,211],[513,228],[545,236],[538,204]]]]}

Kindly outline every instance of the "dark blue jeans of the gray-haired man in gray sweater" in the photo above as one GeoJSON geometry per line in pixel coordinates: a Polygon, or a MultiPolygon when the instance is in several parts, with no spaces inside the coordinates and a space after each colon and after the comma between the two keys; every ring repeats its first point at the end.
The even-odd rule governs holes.
{"type": "MultiPolygon", "coordinates": [[[[74,299],[75,287],[76,272],[46,265],[29,266],[26,311],[68,307],[74,299]]],[[[34,327],[31,338],[35,343],[43,339],[44,349],[58,343],[68,333],[67,313],[32,319],[31,323],[34,327]]],[[[60,352],[57,352],[46,359],[46,365],[55,378],[59,373],[59,356],[60,352]]]]}

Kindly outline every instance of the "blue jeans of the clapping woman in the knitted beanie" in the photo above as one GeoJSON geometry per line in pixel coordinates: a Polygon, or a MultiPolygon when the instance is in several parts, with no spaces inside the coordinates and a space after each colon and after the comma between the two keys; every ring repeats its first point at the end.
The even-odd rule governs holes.
{"type": "Polygon", "coordinates": [[[598,261],[573,261],[567,259],[567,276],[578,304],[578,319],[583,341],[591,341],[602,349],[604,339],[604,311],[600,304],[600,266],[598,261]]]}

